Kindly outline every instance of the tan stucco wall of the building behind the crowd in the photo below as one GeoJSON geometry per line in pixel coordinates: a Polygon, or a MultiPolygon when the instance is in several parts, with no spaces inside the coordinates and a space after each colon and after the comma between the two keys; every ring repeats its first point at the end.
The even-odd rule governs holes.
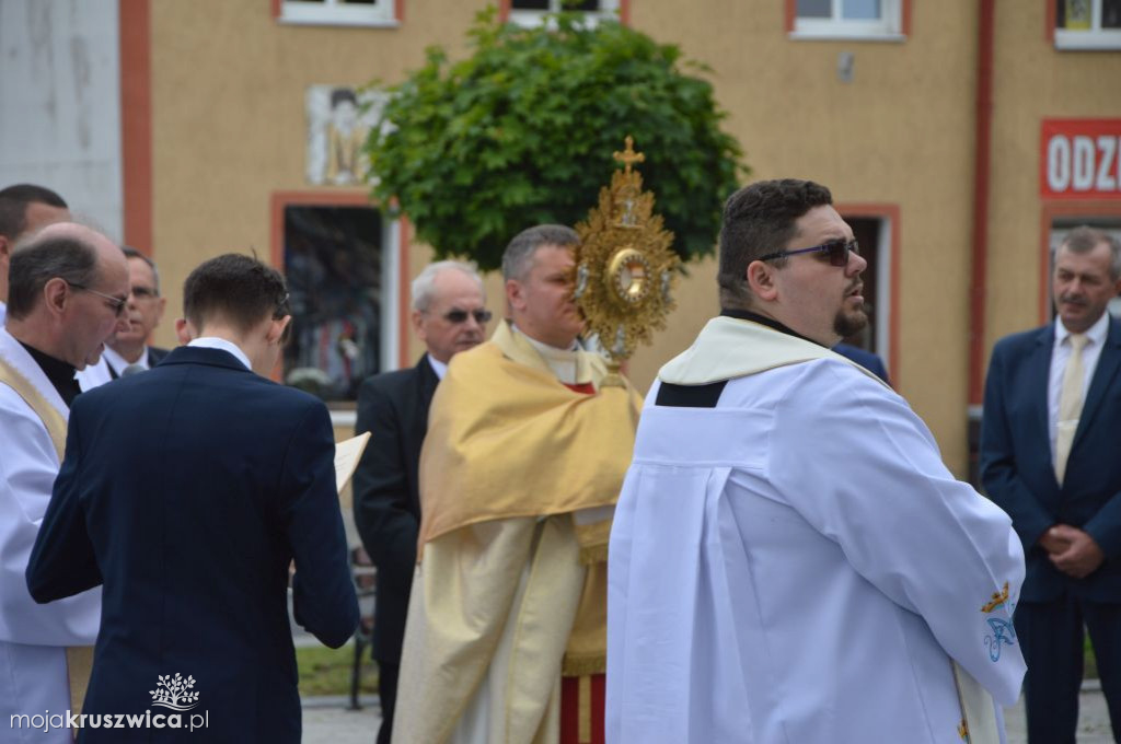
{"type": "MultiPolygon", "coordinates": [[[[154,239],[172,308],[157,341],[174,343],[179,287],[201,260],[270,255],[274,192],[330,192],[304,180],[306,87],[397,82],[432,44],[462,56],[485,3],[404,4],[398,28],[353,29],[284,26],[265,0],[152,0],[154,239]]],[[[898,208],[891,372],[964,475],[979,19],[973,3],[910,7],[904,43],[793,40],[781,0],[693,0],[688,12],[678,0],[634,0],[631,21],[712,68],[751,179],[813,178],[842,204],[898,208]],[[837,80],[842,52],[854,55],[849,83],[837,80]]],[[[997,8],[986,348],[1037,317],[1039,121],[1117,117],[1121,100],[1121,54],[1055,52],[1041,1],[997,8]]],[[[410,276],[430,260],[415,242],[408,255],[410,276]]],[[[717,310],[714,276],[711,259],[689,267],[668,329],[631,361],[641,389],[717,310]]],[[[488,292],[501,315],[498,277],[488,292]]],[[[421,345],[406,343],[416,359],[421,345]]]]}

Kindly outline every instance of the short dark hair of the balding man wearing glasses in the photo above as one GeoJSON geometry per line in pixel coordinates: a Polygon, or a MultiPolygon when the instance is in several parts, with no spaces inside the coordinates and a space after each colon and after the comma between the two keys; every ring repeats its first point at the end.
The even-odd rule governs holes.
{"type": "Polygon", "coordinates": [[[96,249],[72,235],[50,235],[35,238],[12,251],[8,266],[8,315],[17,320],[27,317],[43,288],[56,277],[68,285],[96,285],[96,249]]]}

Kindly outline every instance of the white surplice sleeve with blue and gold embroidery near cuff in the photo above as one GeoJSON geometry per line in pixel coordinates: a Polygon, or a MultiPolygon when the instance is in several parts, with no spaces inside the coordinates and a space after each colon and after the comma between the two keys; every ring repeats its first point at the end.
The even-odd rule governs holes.
{"type": "Polygon", "coordinates": [[[906,401],[847,365],[810,363],[770,437],[768,475],[789,503],[999,703],[1015,703],[1023,549],[1011,519],[949,473],[906,401]]]}

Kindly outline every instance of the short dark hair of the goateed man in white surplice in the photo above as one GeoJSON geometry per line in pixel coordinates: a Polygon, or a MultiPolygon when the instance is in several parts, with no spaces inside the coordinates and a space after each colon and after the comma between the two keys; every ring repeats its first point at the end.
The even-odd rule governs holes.
{"type": "MultiPolygon", "coordinates": [[[[745,308],[751,304],[748,266],[760,255],[781,251],[794,238],[794,223],[816,206],[833,204],[830,189],[812,180],[760,180],[728,197],[720,229],[721,306],[745,308]]],[[[786,259],[775,259],[781,268],[786,259]]]]}

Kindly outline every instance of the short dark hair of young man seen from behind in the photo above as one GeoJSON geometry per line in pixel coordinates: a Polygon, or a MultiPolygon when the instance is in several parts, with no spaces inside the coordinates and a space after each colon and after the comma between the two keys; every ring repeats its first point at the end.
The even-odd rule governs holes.
{"type": "Polygon", "coordinates": [[[245,333],[267,317],[288,314],[284,277],[249,255],[225,253],[204,261],[183,283],[183,315],[195,328],[221,318],[245,333]]]}

